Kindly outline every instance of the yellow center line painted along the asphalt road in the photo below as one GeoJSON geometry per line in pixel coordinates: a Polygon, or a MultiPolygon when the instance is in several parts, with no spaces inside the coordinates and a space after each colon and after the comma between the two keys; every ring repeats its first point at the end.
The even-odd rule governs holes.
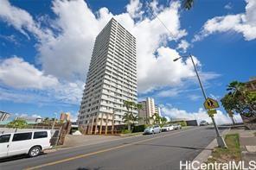
{"type": "Polygon", "coordinates": [[[60,163],[66,162],[66,161],[73,161],[73,160],[80,159],[80,158],[85,158],[85,157],[88,157],[88,156],[91,156],[91,155],[94,155],[94,154],[105,153],[105,152],[115,150],[115,149],[118,149],[118,148],[125,148],[125,147],[131,146],[131,145],[134,145],[134,144],[138,144],[138,143],[141,143],[141,142],[148,142],[148,141],[152,141],[152,140],[155,140],[155,139],[158,139],[158,138],[161,138],[161,137],[165,137],[165,136],[169,136],[169,135],[176,135],[176,134],[180,134],[182,132],[187,132],[187,131],[191,131],[191,130],[194,130],[194,129],[182,130],[182,131],[179,131],[179,132],[176,132],[176,133],[171,133],[171,134],[168,134],[168,135],[159,135],[159,136],[149,138],[149,139],[144,139],[144,140],[141,140],[141,141],[138,141],[138,142],[125,143],[125,144],[120,145],[118,147],[106,148],[106,149],[102,149],[102,150],[95,151],[95,152],[88,153],[88,154],[80,154],[80,155],[70,157],[70,158],[67,158],[67,159],[64,159],[64,160],[53,161],[53,162],[45,163],[45,164],[35,166],[35,167],[28,167],[28,168],[25,168],[25,170],[32,170],[32,169],[38,169],[38,168],[41,168],[41,167],[53,166],[55,164],[60,164],[60,163]]]}

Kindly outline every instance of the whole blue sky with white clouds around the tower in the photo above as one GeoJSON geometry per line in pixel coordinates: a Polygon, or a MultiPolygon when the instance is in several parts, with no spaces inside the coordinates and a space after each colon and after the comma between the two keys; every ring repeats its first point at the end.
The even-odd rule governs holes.
{"type": "MultiPolygon", "coordinates": [[[[138,101],[155,98],[162,116],[207,120],[193,55],[209,98],[256,76],[256,2],[178,0],[1,0],[0,110],[75,120],[93,43],[114,17],[137,39],[138,101]]],[[[231,123],[218,108],[217,123],[231,123]]],[[[239,122],[240,116],[235,116],[239,122]]]]}

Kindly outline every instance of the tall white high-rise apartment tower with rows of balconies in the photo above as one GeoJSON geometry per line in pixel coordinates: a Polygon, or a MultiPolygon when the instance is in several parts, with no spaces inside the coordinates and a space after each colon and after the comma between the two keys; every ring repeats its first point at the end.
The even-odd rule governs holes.
{"type": "Polygon", "coordinates": [[[136,40],[112,18],[94,43],[78,123],[87,134],[108,133],[124,124],[124,101],[137,99],[136,40]]]}

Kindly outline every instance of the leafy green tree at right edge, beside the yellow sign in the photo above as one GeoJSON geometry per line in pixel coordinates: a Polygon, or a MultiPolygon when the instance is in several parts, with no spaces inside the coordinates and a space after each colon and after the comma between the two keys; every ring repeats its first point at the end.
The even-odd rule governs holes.
{"type": "Polygon", "coordinates": [[[221,104],[228,111],[234,111],[241,116],[256,116],[256,92],[247,91],[246,85],[233,81],[227,85],[227,94],[221,98],[221,104]]]}

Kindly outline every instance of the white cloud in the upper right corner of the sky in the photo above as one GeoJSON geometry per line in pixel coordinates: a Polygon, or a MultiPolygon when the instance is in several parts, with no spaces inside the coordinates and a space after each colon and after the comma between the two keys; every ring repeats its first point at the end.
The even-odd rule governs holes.
{"type": "Polygon", "coordinates": [[[242,34],[246,41],[256,39],[256,1],[246,0],[246,3],[245,13],[216,16],[205,22],[202,31],[195,35],[193,41],[201,41],[208,35],[227,31],[242,34]]]}

